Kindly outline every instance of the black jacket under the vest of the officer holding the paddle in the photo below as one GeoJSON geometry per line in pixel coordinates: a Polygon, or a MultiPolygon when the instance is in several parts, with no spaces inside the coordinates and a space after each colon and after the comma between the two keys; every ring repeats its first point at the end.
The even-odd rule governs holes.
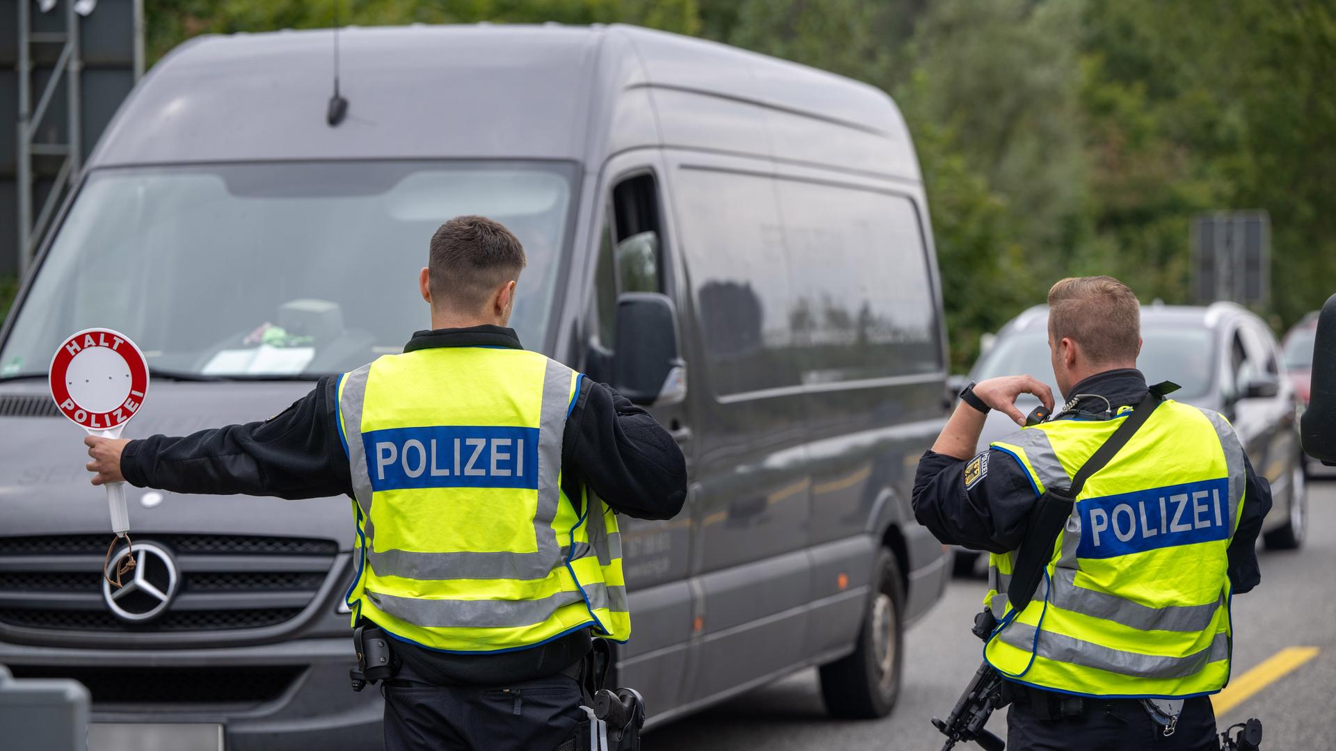
{"type": "MultiPolygon", "coordinates": [[[[403,351],[476,346],[521,349],[512,329],[474,326],[417,331],[403,351]]],[[[337,388],[338,378],[321,378],[311,393],[263,422],[131,441],[120,470],[132,485],[176,493],[353,497],[337,388]]],[[[591,378],[581,380],[566,418],[561,468],[569,497],[578,497],[574,490],[582,482],[619,513],[637,518],[671,518],[687,498],[687,465],[672,436],[648,412],[591,378]]],[[[434,683],[498,684],[565,668],[589,651],[589,635],[581,631],[494,656],[397,647],[417,673],[434,683]]]]}

